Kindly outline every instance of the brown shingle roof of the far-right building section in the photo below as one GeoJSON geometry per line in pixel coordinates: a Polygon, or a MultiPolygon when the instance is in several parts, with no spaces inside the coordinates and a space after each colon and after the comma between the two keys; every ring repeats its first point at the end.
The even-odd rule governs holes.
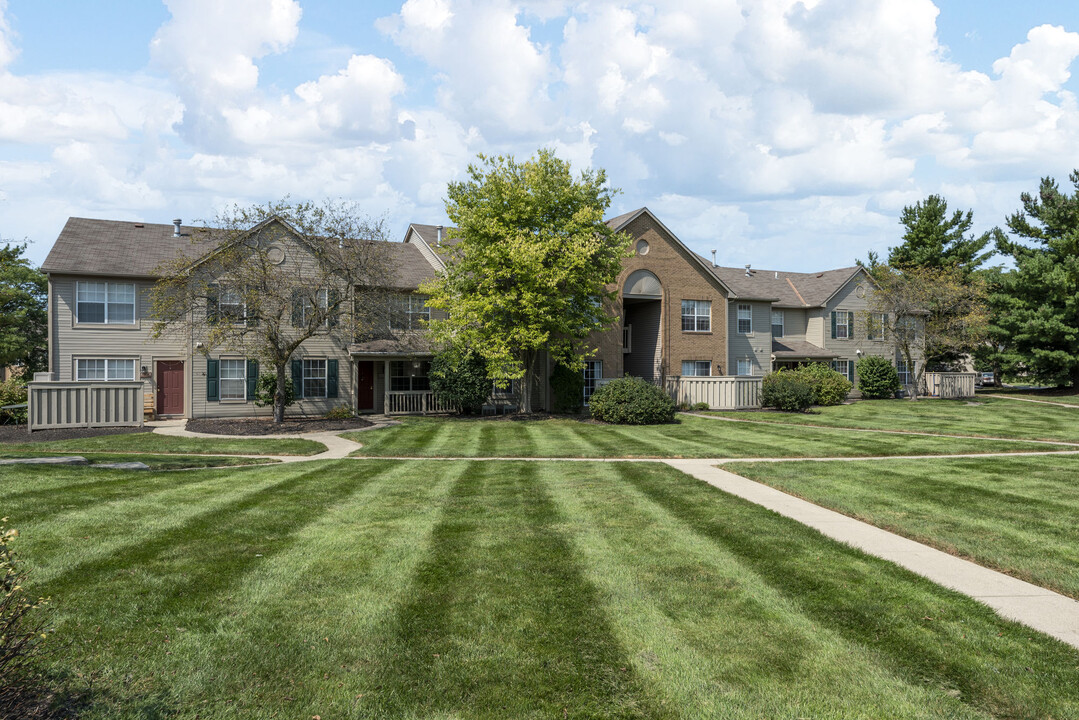
{"type": "Polygon", "coordinates": [[[745,268],[711,268],[739,298],[771,297],[777,308],[820,308],[850,282],[862,268],[839,268],[821,272],[787,272],[745,268]]]}

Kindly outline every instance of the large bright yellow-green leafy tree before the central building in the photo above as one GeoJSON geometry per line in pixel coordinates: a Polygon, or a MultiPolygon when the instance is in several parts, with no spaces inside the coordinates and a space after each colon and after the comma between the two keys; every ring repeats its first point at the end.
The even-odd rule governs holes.
{"type": "Polygon", "coordinates": [[[468,348],[482,357],[491,380],[523,378],[521,409],[538,358],[579,368],[588,335],[614,322],[603,300],[629,247],[629,237],[603,221],[615,190],[606,174],[584,171],[551,150],[525,162],[480,155],[468,179],[448,189],[447,214],[460,240],[447,271],[424,291],[442,310],[432,318],[436,342],[468,348]]]}

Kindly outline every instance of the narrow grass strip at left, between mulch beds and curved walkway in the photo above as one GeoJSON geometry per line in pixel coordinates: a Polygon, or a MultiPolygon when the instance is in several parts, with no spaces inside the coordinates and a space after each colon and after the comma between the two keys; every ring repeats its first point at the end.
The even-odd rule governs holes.
{"type": "Polygon", "coordinates": [[[187,454],[281,454],[310,456],[326,451],[326,446],[303,438],[177,437],[159,433],[98,435],[71,440],[8,443],[10,452],[153,452],[187,454]]]}

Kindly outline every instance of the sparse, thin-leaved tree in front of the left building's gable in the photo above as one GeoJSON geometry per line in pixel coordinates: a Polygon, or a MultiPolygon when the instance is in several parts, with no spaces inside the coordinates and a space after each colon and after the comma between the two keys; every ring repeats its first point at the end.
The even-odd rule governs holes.
{"type": "Polygon", "coordinates": [[[153,337],[265,361],[277,379],[274,422],[285,418],[289,361],[305,340],[345,349],[385,326],[385,230],[353,203],[232,206],[193,240],[193,253],[158,270],[153,337]]]}

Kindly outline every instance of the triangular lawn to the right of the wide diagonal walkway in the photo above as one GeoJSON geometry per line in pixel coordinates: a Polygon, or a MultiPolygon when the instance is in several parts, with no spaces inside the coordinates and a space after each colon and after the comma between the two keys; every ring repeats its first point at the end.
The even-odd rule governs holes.
{"type": "Polygon", "coordinates": [[[738,463],[727,470],[1079,598],[1079,458],[738,463]]]}

